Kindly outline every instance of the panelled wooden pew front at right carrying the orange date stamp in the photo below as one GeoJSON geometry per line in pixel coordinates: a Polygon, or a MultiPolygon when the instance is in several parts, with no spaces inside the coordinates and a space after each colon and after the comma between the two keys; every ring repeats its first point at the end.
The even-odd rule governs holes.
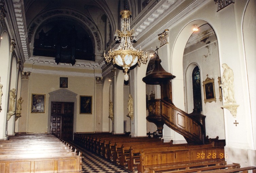
{"type": "MultiPolygon", "coordinates": [[[[177,162],[195,162],[204,159],[224,159],[224,147],[210,147],[209,145],[187,146],[186,149],[141,149],[138,172],[148,171],[150,165],[172,164],[177,162]],[[207,153],[207,155],[205,155],[207,153]],[[145,170],[147,169],[147,170],[145,170]]],[[[134,171],[136,160],[130,156],[128,169],[134,171]]]]}

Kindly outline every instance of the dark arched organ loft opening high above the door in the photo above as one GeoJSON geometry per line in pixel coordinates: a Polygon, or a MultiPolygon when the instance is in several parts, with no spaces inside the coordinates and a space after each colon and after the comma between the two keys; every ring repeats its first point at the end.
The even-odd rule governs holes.
{"type": "Polygon", "coordinates": [[[53,17],[37,28],[33,55],[55,57],[56,63],[69,63],[69,56],[94,61],[95,48],[92,38],[91,33],[75,19],[53,17]]]}

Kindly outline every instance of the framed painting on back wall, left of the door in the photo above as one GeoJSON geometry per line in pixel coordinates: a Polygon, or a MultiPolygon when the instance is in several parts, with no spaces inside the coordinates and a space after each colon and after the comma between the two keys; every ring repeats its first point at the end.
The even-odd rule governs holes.
{"type": "Polygon", "coordinates": [[[32,94],[31,113],[45,113],[45,94],[32,94]]]}

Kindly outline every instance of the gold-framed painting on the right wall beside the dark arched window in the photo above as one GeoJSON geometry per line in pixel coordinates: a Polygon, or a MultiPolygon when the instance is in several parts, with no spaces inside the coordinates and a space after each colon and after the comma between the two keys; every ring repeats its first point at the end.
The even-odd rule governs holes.
{"type": "Polygon", "coordinates": [[[207,78],[203,81],[203,89],[204,89],[204,103],[206,102],[216,102],[215,97],[215,88],[214,88],[214,78],[207,78]]]}

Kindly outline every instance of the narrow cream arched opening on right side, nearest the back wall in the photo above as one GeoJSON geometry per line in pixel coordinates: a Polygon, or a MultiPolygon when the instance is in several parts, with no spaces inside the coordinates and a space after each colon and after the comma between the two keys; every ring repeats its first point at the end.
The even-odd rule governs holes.
{"type": "MultiPolygon", "coordinates": [[[[109,100],[111,100],[110,98],[110,86],[111,86],[111,79],[110,77],[106,77],[104,80],[104,84],[103,84],[103,118],[102,118],[102,131],[108,131],[111,132],[112,128],[112,121],[109,117],[109,100]]],[[[115,115],[114,115],[115,117],[115,115]]]]}

